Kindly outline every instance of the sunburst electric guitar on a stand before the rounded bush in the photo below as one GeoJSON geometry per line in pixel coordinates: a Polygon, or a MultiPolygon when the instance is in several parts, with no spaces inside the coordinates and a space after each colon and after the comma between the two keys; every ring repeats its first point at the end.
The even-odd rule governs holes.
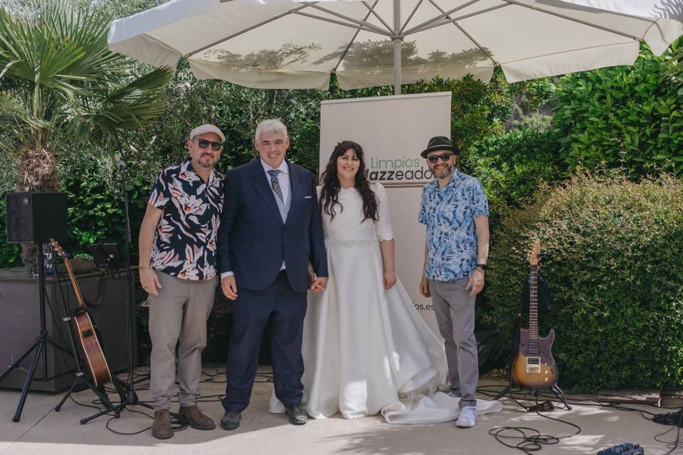
{"type": "Polygon", "coordinates": [[[539,338],[539,255],[541,241],[536,240],[529,255],[529,330],[519,329],[519,352],[512,363],[512,380],[529,389],[551,388],[557,383],[558,371],[551,353],[555,331],[539,338]]]}

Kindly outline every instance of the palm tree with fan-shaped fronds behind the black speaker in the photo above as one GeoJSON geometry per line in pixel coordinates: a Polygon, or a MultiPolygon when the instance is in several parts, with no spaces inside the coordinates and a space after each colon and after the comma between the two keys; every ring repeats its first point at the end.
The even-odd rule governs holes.
{"type": "Polygon", "coordinates": [[[0,8],[0,147],[18,162],[18,191],[57,191],[59,153],[120,149],[126,132],[163,114],[171,70],[136,77],[107,48],[111,21],[102,7],[66,0],[36,0],[22,17],[0,8]]]}

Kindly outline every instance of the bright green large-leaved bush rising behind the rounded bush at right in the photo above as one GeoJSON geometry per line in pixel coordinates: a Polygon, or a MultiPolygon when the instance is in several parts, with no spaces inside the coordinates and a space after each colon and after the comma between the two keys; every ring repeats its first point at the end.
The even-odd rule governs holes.
{"type": "Polygon", "coordinates": [[[553,123],[568,166],[683,175],[683,89],[667,74],[676,48],[655,57],[643,45],[633,66],[561,78],[553,123]]]}

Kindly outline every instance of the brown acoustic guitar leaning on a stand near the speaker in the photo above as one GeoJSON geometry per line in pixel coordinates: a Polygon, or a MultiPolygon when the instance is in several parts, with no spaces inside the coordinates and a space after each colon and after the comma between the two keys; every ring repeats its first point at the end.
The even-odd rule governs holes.
{"type": "Polygon", "coordinates": [[[92,379],[95,387],[99,387],[106,382],[112,382],[112,373],[107,364],[105,353],[102,352],[100,339],[97,337],[97,328],[95,324],[92,323],[92,319],[90,319],[88,309],[85,308],[85,301],[80,294],[78,282],[76,282],[76,277],[73,274],[73,269],[71,269],[71,264],[69,264],[69,259],[64,254],[64,251],[62,250],[62,247],[59,246],[57,240],[51,238],[50,243],[55,249],[55,252],[57,252],[57,255],[64,259],[64,265],[69,274],[74,294],[76,294],[76,299],[78,299],[78,307],[70,312],[70,316],[71,320],[74,322],[75,332],[78,333],[80,347],[83,349],[85,368],[88,370],[90,379],[92,379]]]}

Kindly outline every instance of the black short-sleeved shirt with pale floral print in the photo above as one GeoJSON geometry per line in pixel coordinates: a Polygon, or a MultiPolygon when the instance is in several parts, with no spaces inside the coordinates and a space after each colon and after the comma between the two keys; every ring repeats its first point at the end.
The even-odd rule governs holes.
{"type": "Polygon", "coordinates": [[[212,171],[204,182],[187,160],[159,173],[148,202],[164,210],[150,253],[152,269],[194,281],[216,277],[223,176],[212,171]]]}

